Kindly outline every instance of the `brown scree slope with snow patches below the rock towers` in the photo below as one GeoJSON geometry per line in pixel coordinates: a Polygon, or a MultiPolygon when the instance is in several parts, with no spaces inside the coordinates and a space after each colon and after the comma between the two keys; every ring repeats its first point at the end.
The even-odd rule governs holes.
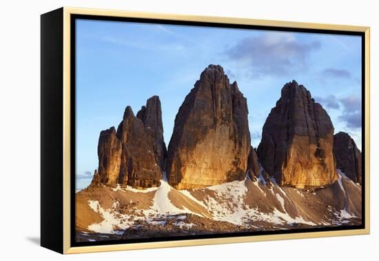
{"type": "Polygon", "coordinates": [[[267,230],[356,222],[361,217],[361,188],[339,170],[338,175],[338,182],[315,191],[280,187],[275,180],[267,186],[263,177],[190,191],[178,191],[165,179],[145,191],[88,188],[76,193],[76,228],[121,235],[127,229],[154,230],[169,224],[212,233],[213,227],[267,230]]]}

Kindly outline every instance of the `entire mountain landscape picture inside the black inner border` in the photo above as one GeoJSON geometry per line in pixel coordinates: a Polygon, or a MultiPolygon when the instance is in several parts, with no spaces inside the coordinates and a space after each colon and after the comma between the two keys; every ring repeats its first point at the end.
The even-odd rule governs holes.
{"type": "Polygon", "coordinates": [[[361,36],[99,19],[75,34],[76,242],[362,225],[361,36]]]}

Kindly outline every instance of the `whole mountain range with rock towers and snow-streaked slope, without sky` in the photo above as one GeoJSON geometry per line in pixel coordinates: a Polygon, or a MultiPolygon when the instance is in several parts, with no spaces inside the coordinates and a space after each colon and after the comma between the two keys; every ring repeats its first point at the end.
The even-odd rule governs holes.
{"type": "Polygon", "coordinates": [[[362,224],[361,153],[296,81],[250,144],[247,101],[208,66],[168,151],[157,96],[101,131],[99,171],[76,193],[76,240],[125,240],[362,224]],[[167,172],[168,180],[163,178],[167,172]],[[359,184],[358,184],[359,183],[359,184]]]}

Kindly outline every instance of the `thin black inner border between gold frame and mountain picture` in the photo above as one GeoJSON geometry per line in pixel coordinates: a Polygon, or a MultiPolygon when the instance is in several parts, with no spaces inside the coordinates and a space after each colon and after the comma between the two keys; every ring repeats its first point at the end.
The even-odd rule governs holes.
{"type": "Polygon", "coordinates": [[[304,29],[304,28],[285,28],[278,26],[252,26],[245,24],[230,24],[230,23],[210,23],[198,21],[172,21],[165,19],[145,19],[145,18],[132,18],[132,17],[107,17],[99,15],[88,14],[71,14],[71,50],[70,50],[70,72],[71,72],[71,227],[70,227],[70,244],[71,247],[87,247],[98,246],[107,244],[131,244],[142,242],[162,242],[162,241],[176,241],[176,240],[193,240],[193,239],[207,239],[207,238],[232,238],[243,237],[251,235],[276,235],[276,234],[289,234],[289,233],[305,233],[305,232],[320,232],[320,231],[343,231],[352,229],[365,229],[365,32],[351,32],[343,30],[321,30],[321,29],[304,29]],[[288,230],[273,230],[273,231],[254,231],[254,232],[236,232],[236,233],[215,233],[208,235],[183,235],[162,238],[139,238],[130,240],[102,240],[97,242],[76,242],[75,231],[75,187],[76,187],[76,19],[88,19],[98,21],[123,21],[135,23],[160,23],[178,26],[205,26],[216,28],[236,28],[236,29],[252,29],[252,30],[273,30],[285,32],[308,32],[308,33],[321,33],[329,35],[355,35],[361,37],[361,62],[362,62],[362,224],[355,226],[332,226],[325,228],[309,228],[309,229],[288,229],[288,230]]]}

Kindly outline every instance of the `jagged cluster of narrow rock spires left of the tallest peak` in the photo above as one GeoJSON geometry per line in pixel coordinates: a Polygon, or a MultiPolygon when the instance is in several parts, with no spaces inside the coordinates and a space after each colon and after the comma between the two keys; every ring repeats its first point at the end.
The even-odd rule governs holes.
{"type": "MultiPolygon", "coordinates": [[[[99,177],[101,184],[144,189],[159,186],[163,177],[165,142],[161,101],[147,100],[137,116],[127,106],[117,131],[101,131],[99,137],[99,177]]],[[[94,176],[94,179],[97,178],[94,176]]]]}

